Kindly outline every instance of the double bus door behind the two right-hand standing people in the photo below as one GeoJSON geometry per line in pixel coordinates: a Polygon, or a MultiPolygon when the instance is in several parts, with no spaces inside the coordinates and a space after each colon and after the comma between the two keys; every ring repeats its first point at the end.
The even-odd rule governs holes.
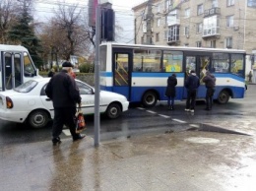
{"type": "MultiPolygon", "coordinates": [[[[205,89],[205,84],[203,83],[203,78],[205,77],[206,70],[210,68],[212,59],[210,54],[198,55],[198,52],[196,54],[197,55],[185,55],[186,73],[185,73],[184,80],[186,81],[190,71],[194,70],[196,72],[196,75],[200,79],[200,87],[198,89],[197,97],[202,98],[202,97],[205,97],[206,95],[206,89],[205,89]]],[[[185,85],[185,82],[184,82],[184,85],[185,85]]],[[[185,86],[183,91],[183,97],[187,97],[185,86]]]]}

